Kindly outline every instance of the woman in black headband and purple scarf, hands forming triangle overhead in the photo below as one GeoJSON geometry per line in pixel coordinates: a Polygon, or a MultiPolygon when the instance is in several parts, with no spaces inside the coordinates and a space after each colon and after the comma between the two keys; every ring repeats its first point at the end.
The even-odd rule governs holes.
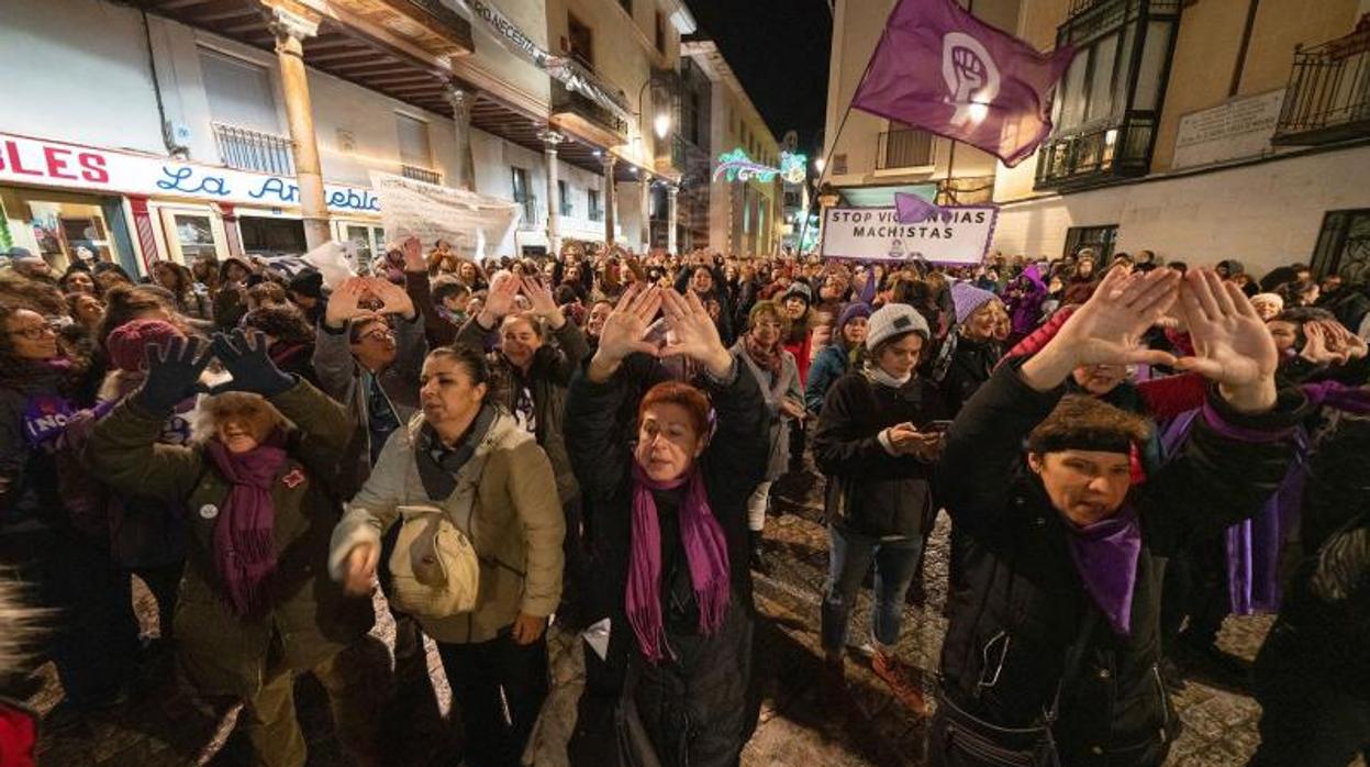
{"type": "Polygon", "coordinates": [[[964,545],[933,764],[997,763],[977,756],[985,744],[1041,748],[1048,714],[1062,764],[1164,760],[1175,731],[1158,670],[1166,562],[1260,510],[1288,470],[1306,403],[1277,396],[1270,334],[1240,289],[1208,271],[1191,271],[1178,290],[1199,356],[1137,349],[1178,282],[1170,270],[1112,270],[1041,352],[1000,367],[952,425],[938,490],[964,545]],[[1185,451],[1130,488],[1129,448],[1148,425],[1063,399],[1063,385],[1082,364],[1134,362],[1218,386],[1185,451]]]}

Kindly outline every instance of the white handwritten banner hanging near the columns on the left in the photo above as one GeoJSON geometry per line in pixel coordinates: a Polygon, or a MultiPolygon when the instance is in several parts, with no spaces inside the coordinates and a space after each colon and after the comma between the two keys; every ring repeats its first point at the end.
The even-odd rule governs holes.
{"type": "Polygon", "coordinates": [[[447,240],[453,251],[474,259],[514,251],[516,203],[377,171],[371,171],[371,190],[381,200],[381,221],[392,242],[414,236],[429,249],[447,240]]]}

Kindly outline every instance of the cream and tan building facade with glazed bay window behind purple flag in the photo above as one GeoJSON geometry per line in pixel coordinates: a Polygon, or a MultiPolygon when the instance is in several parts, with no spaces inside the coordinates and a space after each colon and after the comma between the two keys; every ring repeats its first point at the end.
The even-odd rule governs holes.
{"type": "MultiPolygon", "coordinates": [[[[1078,49],[1052,136],[1017,167],[986,163],[1000,207],[992,249],[1149,249],[1236,259],[1258,275],[1302,262],[1370,278],[1370,3],[1032,0],[1008,12],[975,0],[971,10],[1038,49],[1078,49]]],[[[843,108],[854,88],[837,89],[843,108]]],[[[963,151],[974,152],[956,147],[955,175],[963,151]]]]}

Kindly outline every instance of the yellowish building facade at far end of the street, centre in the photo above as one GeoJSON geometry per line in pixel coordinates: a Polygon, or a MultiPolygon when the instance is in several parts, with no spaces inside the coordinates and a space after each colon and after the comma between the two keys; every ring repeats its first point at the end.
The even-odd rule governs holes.
{"type": "MultiPolygon", "coordinates": [[[[766,126],[756,105],[736,73],[723,60],[711,40],[695,38],[682,44],[682,55],[708,78],[708,144],[714,164],[734,149],[741,149],[752,160],[777,167],[780,144],[766,126]]],[[[717,173],[710,175],[708,249],[740,257],[770,256],[778,252],[782,236],[782,203],[780,178],[771,181],[729,179],[717,173]]]]}

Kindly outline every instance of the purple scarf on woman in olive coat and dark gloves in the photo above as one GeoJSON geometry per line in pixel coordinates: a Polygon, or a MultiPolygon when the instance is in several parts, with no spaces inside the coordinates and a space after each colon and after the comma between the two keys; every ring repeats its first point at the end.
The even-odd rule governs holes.
{"type": "Polygon", "coordinates": [[[273,434],[247,453],[230,453],[218,438],[206,444],[206,452],[230,485],[214,525],[214,567],[240,616],[264,611],[267,579],[275,571],[271,483],[285,463],[279,441],[279,433],[273,434]]]}

